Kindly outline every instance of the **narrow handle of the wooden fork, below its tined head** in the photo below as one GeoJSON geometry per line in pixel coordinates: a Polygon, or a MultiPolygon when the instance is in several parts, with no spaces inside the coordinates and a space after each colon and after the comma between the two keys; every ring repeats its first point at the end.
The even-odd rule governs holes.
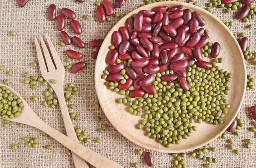
{"type": "MultiPolygon", "coordinates": [[[[68,112],[66,100],[64,97],[64,91],[63,91],[63,89],[61,89],[61,90],[62,91],[56,90],[57,92],[55,92],[55,93],[56,93],[56,96],[58,98],[58,101],[59,101],[59,104],[61,107],[62,118],[63,118],[64,125],[66,128],[67,136],[70,137],[72,140],[79,142],[77,139],[77,136],[76,136],[74,126],[70,119],[70,114],[68,112]]],[[[88,163],[84,159],[82,159],[80,156],[78,156],[77,154],[75,154],[73,152],[72,152],[72,156],[73,156],[73,161],[75,163],[76,168],[89,168],[88,163]]]]}

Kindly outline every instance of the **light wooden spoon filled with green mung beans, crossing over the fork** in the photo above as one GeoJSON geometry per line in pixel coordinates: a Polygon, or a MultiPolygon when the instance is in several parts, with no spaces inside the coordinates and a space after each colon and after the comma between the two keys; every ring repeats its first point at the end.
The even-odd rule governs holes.
{"type": "MultiPolygon", "coordinates": [[[[26,101],[11,87],[8,87],[4,84],[0,84],[0,87],[6,87],[7,89],[9,89],[11,93],[18,96],[18,98],[20,98],[24,104],[24,106],[22,107],[21,115],[17,118],[9,119],[10,121],[30,125],[44,131],[49,136],[56,139],[62,145],[69,148],[71,151],[79,155],[81,158],[83,158],[96,168],[123,168],[118,163],[113,162],[112,160],[101,156],[100,154],[97,154],[96,152],[79,144],[78,142],[73,141],[69,137],[60,133],[58,130],[55,130],[54,128],[47,125],[35,114],[35,112],[26,103],[26,101]]],[[[0,116],[0,118],[2,118],[2,116],[0,116]]]]}

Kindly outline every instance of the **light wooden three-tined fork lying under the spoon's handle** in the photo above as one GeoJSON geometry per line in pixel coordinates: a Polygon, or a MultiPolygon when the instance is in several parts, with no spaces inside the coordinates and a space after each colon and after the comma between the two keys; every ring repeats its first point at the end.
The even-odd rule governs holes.
{"type": "MultiPolygon", "coordinates": [[[[56,96],[58,98],[59,105],[61,107],[61,113],[64,121],[64,125],[66,128],[67,136],[73,139],[76,142],[79,142],[76,136],[76,132],[74,129],[74,126],[70,119],[70,114],[68,112],[66,100],[64,97],[64,77],[65,77],[65,69],[61,62],[61,59],[58,56],[58,53],[56,52],[56,49],[54,48],[52,41],[50,40],[49,36],[46,34],[46,39],[49,44],[50,51],[52,53],[53,61],[55,62],[56,69],[54,67],[54,64],[52,62],[51,56],[49,54],[49,51],[47,49],[46,44],[44,43],[43,38],[40,35],[41,45],[44,51],[44,57],[42,55],[39,43],[37,38],[35,38],[35,46],[36,46],[36,52],[38,56],[38,63],[41,70],[41,74],[44,77],[44,79],[50,84],[54,92],[56,93],[56,96]],[[44,58],[46,60],[46,64],[44,62],[44,58]],[[48,70],[47,70],[48,68],[48,70]],[[54,79],[57,81],[56,84],[52,84],[51,80],[54,79]]],[[[76,168],[89,168],[87,162],[72,152],[73,160],[75,163],[76,168]]]]}

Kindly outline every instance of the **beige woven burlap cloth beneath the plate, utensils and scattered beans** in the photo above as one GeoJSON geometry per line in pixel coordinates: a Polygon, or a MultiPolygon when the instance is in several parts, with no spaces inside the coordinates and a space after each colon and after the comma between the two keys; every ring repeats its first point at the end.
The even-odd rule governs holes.
{"type": "MultiPolygon", "coordinates": [[[[112,159],[115,162],[123,165],[126,168],[133,167],[133,163],[137,162],[140,168],[147,168],[143,160],[143,156],[137,154],[137,150],[146,149],[141,148],[129,142],[106,119],[102,110],[97,110],[95,104],[97,96],[94,87],[94,67],[95,60],[90,57],[93,48],[86,45],[85,49],[78,49],[73,45],[61,47],[61,38],[58,35],[59,32],[56,29],[56,21],[50,21],[47,18],[48,6],[54,3],[57,6],[58,14],[61,8],[69,8],[76,12],[77,20],[81,23],[83,33],[79,35],[86,44],[89,41],[104,38],[108,31],[119,20],[112,17],[111,22],[99,23],[96,20],[96,6],[94,3],[96,0],[85,0],[84,3],[78,3],[75,0],[30,0],[24,8],[17,6],[17,0],[0,0],[0,64],[5,67],[3,71],[0,71],[0,82],[5,79],[10,79],[11,84],[9,86],[17,90],[21,96],[31,105],[35,113],[48,125],[59,130],[61,133],[66,133],[64,123],[61,117],[60,108],[56,109],[51,107],[43,107],[41,104],[45,101],[44,91],[48,87],[39,86],[37,90],[32,90],[30,85],[25,85],[23,82],[25,77],[24,72],[29,72],[30,75],[40,76],[39,67],[31,67],[33,61],[37,61],[37,56],[34,46],[34,38],[39,35],[47,33],[59,53],[64,65],[67,65],[65,59],[66,49],[74,49],[82,52],[84,58],[82,61],[87,63],[87,67],[77,74],[71,74],[69,70],[66,70],[65,86],[69,82],[79,88],[79,96],[75,97],[74,103],[77,105],[76,109],[71,109],[70,112],[74,112],[81,116],[81,120],[73,121],[74,128],[82,128],[87,130],[88,136],[92,142],[85,144],[88,148],[96,151],[97,153],[112,159]],[[89,14],[90,19],[85,20],[84,15],[89,14]],[[17,31],[17,36],[11,36],[11,30],[17,31]],[[12,70],[14,75],[9,77],[7,71],[12,70]],[[39,101],[32,100],[32,96],[38,96],[39,101]],[[102,120],[97,122],[96,116],[100,116],[102,120]],[[107,124],[108,129],[104,133],[98,133],[98,129],[102,124],[107,124]],[[93,142],[94,139],[101,138],[102,143],[97,144],[93,142]]],[[[198,1],[202,7],[206,7],[209,0],[198,1]]],[[[114,3],[114,2],[113,2],[114,3]]],[[[114,9],[115,12],[120,14],[127,14],[142,4],[142,0],[127,0],[125,5],[121,9],[114,9]]],[[[256,3],[255,3],[256,4],[256,3]]],[[[229,14],[224,13],[224,9],[214,8],[213,11],[216,16],[222,21],[234,21],[234,26],[230,27],[233,33],[245,32],[246,36],[250,39],[251,51],[256,50],[256,29],[255,20],[250,20],[248,23],[243,23],[239,20],[233,19],[236,12],[229,14]],[[253,29],[247,29],[246,25],[253,24],[253,29]]],[[[214,28],[213,28],[214,29],[214,28]]],[[[65,30],[72,37],[74,34],[70,28],[69,21],[65,30]]],[[[224,46],[223,46],[224,47],[224,46]]],[[[72,64],[77,61],[73,60],[72,64]]],[[[255,65],[250,61],[246,61],[247,73],[255,74],[255,65]]],[[[241,129],[241,136],[235,136],[231,133],[227,134],[227,139],[233,139],[235,142],[235,149],[240,151],[239,155],[236,155],[234,151],[228,149],[227,139],[216,139],[212,142],[212,147],[218,148],[218,152],[209,152],[206,156],[212,156],[218,159],[218,163],[211,164],[214,168],[255,168],[256,167],[256,141],[255,133],[250,132],[249,128],[252,126],[252,117],[250,116],[249,107],[256,104],[255,90],[246,92],[246,96],[243,101],[243,105],[239,112],[244,127],[241,129]],[[252,148],[245,148],[246,139],[252,139],[252,148]]],[[[54,95],[53,95],[54,96],[54,95]]],[[[239,100],[230,100],[232,101],[239,100]]],[[[4,128],[5,121],[0,120],[0,168],[73,168],[73,160],[71,156],[68,156],[68,150],[60,143],[56,142],[52,138],[45,138],[44,133],[33,127],[24,125],[23,128],[18,127],[17,123],[11,122],[10,128],[4,128]],[[29,136],[32,138],[39,137],[39,148],[27,148],[26,143],[23,142],[23,137],[29,136]],[[19,149],[17,151],[12,150],[12,145],[17,144],[19,149]],[[45,149],[46,145],[53,145],[52,150],[45,149]]],[[[142,135],[143,136],[143,135],[142,135]]],[[[173,157],[170,154],[152,152],[154,158],[154,168],[171,168],[173,167],[173,157]]],[[[186,156],[186,166],[189,168],[204,167],[204,161],[191,156],[186,156]]],[[[90,166],[93,167],[93,166],[90,166]]]]}

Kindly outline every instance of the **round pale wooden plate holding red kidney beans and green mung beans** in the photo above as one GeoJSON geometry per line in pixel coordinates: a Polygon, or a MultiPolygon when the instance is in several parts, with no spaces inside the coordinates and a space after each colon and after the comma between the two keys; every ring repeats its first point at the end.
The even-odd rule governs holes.
{"type": "MultiPolygon", "coordinates": [[[[210,58],[204,58],[204,60],[207,59],[209,60],[210,58]]],[[[231,122],[233,122],[237,113],[239,112],[244,98],[246,87],[246,68],[239,43],[236,41],[236,38],[233,36],[227,26],[221,22],[221,20],[206,10],[189,3],[158,2],[142,6],[130,12],[119,20],[115,26],[113,26],[99,50],[95,67],[95,85],[96,93],[102,110],[111,124],[116,128],[116,130],[125,136],[125,138],[143,148],[147,148],[152,151],[180,153],[200,148],[213,141],[227,129],[231,122]],[[118,31],[119,27],[126,25],[125,23],[128,17],[131,17],[133,14],[136,14],[142,10],[154,9],[154,7],[157,6],[171,7],[177,5],[183,5],[183,10],[190,9],[192,12],[198,11],[206,20],[204,29],[208,29],[210,31],[210,42],[214,43],[217,41],[221,44],[221,52],[218,58],[223,57],[224,62],[218,64],[218,66],[224,70],[227,70],[228,72],[233,73],[233,78],[229,83],[230,91],[227,96],[227,100],[229,101],[231,108],[228,110],[228,114],[225,115],[223,124],[210,125],[206,122],[203,122],[202,124],[194,123],[198,127],[198,130],[192,132],[191,137],[186,140],[182,139],[180,145],[172,145],[171,148],[165,148],[156,140],[145,136],[145,131],[143,129],[138,130],[136,128],[137,124],[142,119],[142,116],[134,116],[126,110],[127,106],[116,103],[117,98],[124,98],[125,96],[108,90],[108,87],[104,84],[105,79],[102,79],[101,76],[103,73],[102,71],[108,66],[105,60],[109,52],[109,46],[111,46],[112,34],[114,31],[118,31]]]]}

